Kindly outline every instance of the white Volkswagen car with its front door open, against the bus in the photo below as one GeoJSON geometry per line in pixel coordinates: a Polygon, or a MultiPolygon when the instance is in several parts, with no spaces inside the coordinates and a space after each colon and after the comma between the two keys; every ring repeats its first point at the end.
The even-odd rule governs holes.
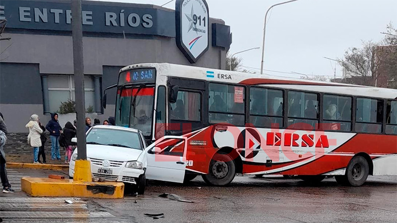
{"type": "MultiPolygon", "coordinates": [[[[77,139],[73,138],[72,142],[77,139]]],[[[96,125],[86,134],[87,160],[91,172],[106,181],[119,181],[135,185],[135,191],[143,194],[147,179],[183,183],[187,138],[165,136],[146,147],[139,130],[112,125],[96,125]],[[164,142],[164,144],[162,144],[164,142]],[[171,142],[171,143],[170,143],[171,142]],[[165,146],[163,146],[165,145],[165,146]],[[178,155],[170,153],[172,145],[182,150],[178,155]]],[[[73,178],[77,148],[69,164],[69,177],[73,178]]]]}

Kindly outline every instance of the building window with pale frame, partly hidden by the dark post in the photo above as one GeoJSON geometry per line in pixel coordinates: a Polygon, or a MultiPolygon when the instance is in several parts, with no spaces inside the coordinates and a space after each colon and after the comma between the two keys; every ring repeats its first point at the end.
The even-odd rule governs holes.
{"type": "MultiPolygon", "coordinates": [[[[73,75],[49,75],[47,76],[48,103],[50,112],[59,112],[61,103],[68,100],[75,101],[74,76],[73,75]]],[[[95,111],[94,80],[91,76],[84,76],[84,100],[85,109],[95,111]]]]}

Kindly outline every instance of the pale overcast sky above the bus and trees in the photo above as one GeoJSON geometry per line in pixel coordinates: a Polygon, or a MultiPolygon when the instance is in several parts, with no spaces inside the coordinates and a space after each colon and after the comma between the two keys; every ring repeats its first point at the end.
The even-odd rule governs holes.
{"type": "MultiPolygon", "coordinates": [[[[169,0],[103,0],[162,5],[169,0]]],[[[236,56],[242,68],[260,73],[266,10],[285,0],[206,0],[209,15],[231,27],[230,53],[261,47],[236,56]]],[[[175,9],[175,1],[164,7],[175,9]]],[[[265,36],[265,73],[299,78],[291,72],[333,77],[335,61],[362,41],[380,41],[386,25],[397,26],[397,0],[298,0],[273,7],[265,36]],[[275,72],[277,71],[277,72],[275,72]]],[[[336,64],[336,77],[342,69],[336,64]]]]}

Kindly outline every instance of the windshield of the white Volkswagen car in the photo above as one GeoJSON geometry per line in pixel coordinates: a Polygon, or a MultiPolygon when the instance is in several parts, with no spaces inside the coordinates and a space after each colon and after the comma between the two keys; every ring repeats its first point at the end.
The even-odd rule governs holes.
{"type": "Polygon", "coordinates": [[[119,129],[93,128],[87,135],[87,144],[108,145],[142,150],[137,132],[119,129]]]}

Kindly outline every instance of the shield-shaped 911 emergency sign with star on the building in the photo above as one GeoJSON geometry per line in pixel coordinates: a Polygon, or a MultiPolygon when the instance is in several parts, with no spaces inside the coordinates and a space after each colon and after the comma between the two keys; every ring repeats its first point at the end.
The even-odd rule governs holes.
{"type": "Polygon", "coordinates": [[[177,0],[176,42],[191,63],[208,50],[209,13],[205,0],[177,0]]]}

